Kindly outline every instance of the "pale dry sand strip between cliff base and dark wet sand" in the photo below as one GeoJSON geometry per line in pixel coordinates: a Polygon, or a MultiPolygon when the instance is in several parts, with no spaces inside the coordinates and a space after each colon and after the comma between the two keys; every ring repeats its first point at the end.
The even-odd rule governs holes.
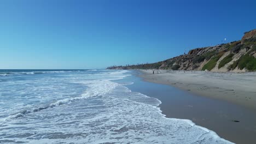
{"type": "Polygon", "coordinates": [[[209,71],[141,70],[149,82],[171,85],[201,95],[229,101],[256,112],[256,73],[212,73],[209,71]]]}

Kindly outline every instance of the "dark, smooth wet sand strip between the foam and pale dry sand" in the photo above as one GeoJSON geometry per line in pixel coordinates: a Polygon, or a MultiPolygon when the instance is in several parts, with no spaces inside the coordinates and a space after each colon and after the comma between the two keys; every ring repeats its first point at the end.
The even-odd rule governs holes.
{"type": "Polygon", "coordinates": [[[160,109],[166,117],[190,119],[231,142],[256,141],[256,113],[253,109],[219,99],[201,97],[172,86],[142,81],[136,76],[127,79],[134,82],[133,85],[127,86],[132,91],[161,100],[160,109]]]}

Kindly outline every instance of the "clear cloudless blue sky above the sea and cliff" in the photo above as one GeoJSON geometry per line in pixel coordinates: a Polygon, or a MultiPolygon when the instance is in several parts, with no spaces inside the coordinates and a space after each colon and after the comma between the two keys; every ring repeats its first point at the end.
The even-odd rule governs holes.
{"type": "Polygon", "coordinates": [[[240,40],[256,1],[2,0],[0,69],[152,63],[240,40]]]}

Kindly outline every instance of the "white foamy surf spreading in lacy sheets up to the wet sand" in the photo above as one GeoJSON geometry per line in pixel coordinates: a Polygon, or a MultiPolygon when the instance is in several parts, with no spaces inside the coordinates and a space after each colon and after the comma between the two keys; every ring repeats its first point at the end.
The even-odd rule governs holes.
{"type": "MultiPolygon", "coordinates": [[[[65,77],[72,83],[65,83],[61,77],[59,85],[86,86],[86,90],[77,97],[65,97],[10,116],[13,121],[0,128],[0,142],[231,143],[187,119],[166,118],[158,107],[160,100],[125,87],[132,82],[112,81],[123,79],[126,72],[103,71],[86,75],[86,79],[85,74],[65,77]]],[[[59,81],[55,79],[39,82],[59,81]]],[[[61,88],[59,85],[55,86],[61,88]]],[[[40,89],[45,93],[50,88],[40,89]]]]}

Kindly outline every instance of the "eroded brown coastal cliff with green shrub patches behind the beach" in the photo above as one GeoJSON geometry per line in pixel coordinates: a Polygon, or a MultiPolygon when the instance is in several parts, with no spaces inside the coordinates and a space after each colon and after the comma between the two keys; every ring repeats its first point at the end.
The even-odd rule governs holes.
{"type": "Polygon", "coordinates": [[[239,41],[190,50],[187,54],[165,61],[107,69],[172,69],[213,72],[256,71],[256,29],[246,32],[239,41]]]}

